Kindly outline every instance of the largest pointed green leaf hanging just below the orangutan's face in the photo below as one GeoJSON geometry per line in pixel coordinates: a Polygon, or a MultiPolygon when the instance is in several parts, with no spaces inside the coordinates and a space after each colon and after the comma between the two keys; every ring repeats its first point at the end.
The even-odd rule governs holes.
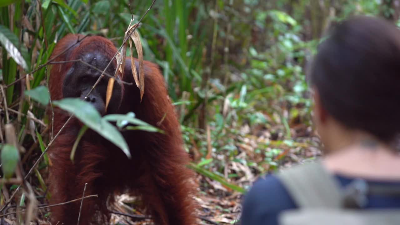
{"type": "Polygon", "coordinates": [[[129,147],[126,144],[124,137],[122,137],[116,127],[101,118],[100,113],[96,108],[94,108],[94,106],[92,106],[92,104],[80,100],[79,98],[64,98],[62,100],[54,101],[53,104],[72,113],[90,129],[119,147],[128,158],[131,157],[129,147]]]}

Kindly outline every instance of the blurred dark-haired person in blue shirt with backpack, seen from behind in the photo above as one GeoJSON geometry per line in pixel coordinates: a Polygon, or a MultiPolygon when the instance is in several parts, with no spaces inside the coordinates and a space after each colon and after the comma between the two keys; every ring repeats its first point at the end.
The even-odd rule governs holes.
{"type": "Polygon", "coordinates": [[[371,16],[341,22],[308,78],[324,157],[258,179],[241,224],[400,224],[400,30],[371,16]]]}

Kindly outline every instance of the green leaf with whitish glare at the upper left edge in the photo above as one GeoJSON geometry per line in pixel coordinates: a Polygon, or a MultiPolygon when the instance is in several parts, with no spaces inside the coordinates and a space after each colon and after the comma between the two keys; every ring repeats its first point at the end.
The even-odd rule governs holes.
{"type": "Polygon", "coordinates": [[[18,41],[17,36],[3,25],[0,25],[0,43],[14,61],[28,71],[28,50],[18,41]]]}

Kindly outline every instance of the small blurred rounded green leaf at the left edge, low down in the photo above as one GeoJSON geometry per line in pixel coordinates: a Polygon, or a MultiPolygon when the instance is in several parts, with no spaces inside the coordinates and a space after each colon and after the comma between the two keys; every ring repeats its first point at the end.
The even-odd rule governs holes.
{"type": "Polygon", "coordinates": [[[2,145],[0,162],[2,164],[1,169],[5,178],[11,178],[14,175],[18,160],[18,149],[14,145],[2,145]]]}

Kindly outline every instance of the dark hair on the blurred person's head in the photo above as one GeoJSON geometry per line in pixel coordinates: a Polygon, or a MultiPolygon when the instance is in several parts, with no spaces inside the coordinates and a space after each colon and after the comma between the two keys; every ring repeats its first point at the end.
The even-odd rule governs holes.
{"type": "Polygon", "coordinates": [[[394,24],[370,16],[341,22],[318,47],[309,75],[332,117],[394,141],[400,131],[400,30],[394,24]]]}

